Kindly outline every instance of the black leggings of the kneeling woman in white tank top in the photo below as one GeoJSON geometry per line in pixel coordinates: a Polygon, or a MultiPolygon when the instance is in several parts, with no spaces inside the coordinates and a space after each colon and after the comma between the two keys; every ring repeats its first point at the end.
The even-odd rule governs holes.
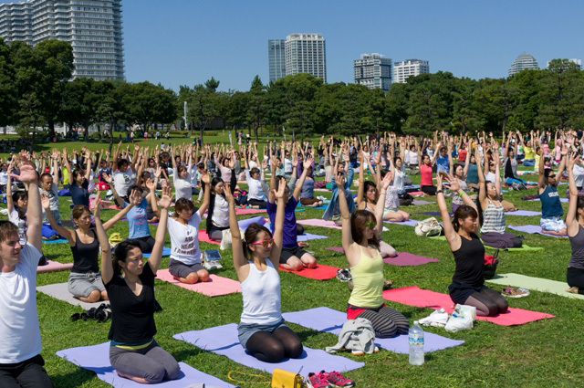
{"type": "Polygon", "coordinates": [[[284,357],[300,357],[302,342],[294,331],[284,326],[272,332],[255,332],[245,343],[245,349],[259,361],[279,362],[284,357]]]}

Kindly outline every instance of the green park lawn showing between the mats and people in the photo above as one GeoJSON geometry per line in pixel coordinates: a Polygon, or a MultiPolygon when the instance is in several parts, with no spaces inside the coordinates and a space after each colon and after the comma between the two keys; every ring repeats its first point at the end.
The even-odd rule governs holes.
{"type": "MultiPolygon", "coordinates": [[[[521,168],[520,168],[521,169],[521,168]]],[[[419,183],[419,175],[413,177],[419,183]]],[[[528,180],[535,180],[535,175],[527,175],[528,180]]],[[[560,186],[561,196],[565,196],[565,188],[560,186]]],[[[520,196],[526,193],[534,194],[537,189],[527,192],[510,192],[506,199],[525,210],[541,210],[538,202],[525,202],[520,196]]],[[[328,198],[328,193],[325,194],[328,198]]],[[[70,215],[69,204],[61,199],[61,212],[64,219],[70,215]]],[[[412,214],[412,219],[422,220],[426,215],[416,214],[422,211],[436,211],[433,198],[423,198],[433,204],[409,206],[403,209],[412,214]]],[[[567,204],[563,204],[567,210],[567,204]]],[[[102,212],[103,219],[114,215],[114,210],[102,212]]],[[[297,213],[298,219],[319,218],[322,211],[307,209],[297,213]]],[[[5,218],[5,216],[4,216],[5,218]]],[[[244,218],[244,217],[241,217],[244,218]]],[[[539,217],[507,216],[507,225],[534,224],[539,217]]],[[[409,226],[386,224],[389,232],[384,232],[383,240],[390,243],[398,251],[440,259],[439,263],[420,267],[385,266],[385,278],[394,280],[394,288],[418,286],[438,292],[447,292],[454,273],[454,259],[447,243],[426,237],[415,236],[409,226]]],[[[204,223],[201,224],[204,228],[204,223]]],[[[347,267],[347,261],[341,254],[325,250],[328,246],[341,245],[341,231],[322,227],[305,226],[310,233],[326,235],[328,239],[309,241],[309,250],[315,252],[321,264],[335,267],[347,267]]],[[[154,226],[151,226],[152,234],[154,226]]],[[[509,230],[513,233],[513,230],[509,230]]],[[[113,232],[127,236],[128,224],[120,222],[113,232]]],[[[525,242],[530,246],[543,246],[545,249],[529,253],[508,253],[502,251],[499,255],[497,273],[515,272],[538,278],[549,278],[559,281],[566,280],[566,267],[570,257],[568,239],[551,238],[539,235],[525,235],[525,242]]],[[[166,238],[170,246],[170,238],[166,238]]],[[[216,246],[201,243],[201,249],[215,249],[216,246]]],[[[44,253],[50,259],[61,262],[71,262],[72,257],[67,244],[45,245],[44,253]]],[[[233,269],[231,251],[223,251],[224,269],[218,274],[236,279],[233,269]]],[[[163,258],[161,268],[168,267],[168,257],[163,258]]],[[[345,283],[337,279],[317,281],[301,278],[293,274],[280,274],[282,278],[282,309],[284,312],[311,309],[326,306],[331,309],[345,310],[349,299],[349,289],[345,283]]],[[[68,271],[41,274],[37,277],[39,286],[57,282],[66,282],[68,271]]],[[[495,286],[497,287],[497,286],[495,286]]],[[[502,287],[500,287],[502,288],[502,287]]],[[[162,347],[170,351],[179,362],[186,362],[202,372],[212,374],[225,382],[229,381],[229,372],[235,374],[243,388],[267,387],[267,383],[254,383],[260,378],[251,374],[260,374],[269,380],[266,372],[258,372],[241,364],[232,362],[223,356],[203,351],[191,344],[172,339],[172,335],[187,331],[201,330],[212,326],[224,325],[239,321],[242,310],[241,295],[234,294],[224,297],[208,298],[201,294],[156,281],[156,296],[163,311],[155,316],[158,334],[156,340],[162,347]],[[250,373],[250,374],[245,374],[250,373]]],[[[396,303],[388,306],[401,311],[411,322],[429,315],[431,309],[419,309],[396,303]]],[[[107,387],[92,372],[86,372],[74,364],[55,355],[56,351],[71,347],[99,344],[107,340],[110,322],[95,321],[71,322],[69,317],[80,308],[68,305],[57,299],[37,293],[37,305],[43,339],[42,355],[46,360],[46,368],[56,387],[107,387]]],[[[523,326],[503,327],[495,324],[477,321],[474,329],[457,333],[448,333],[443,329],[424,328],[456,340],[464,340],[462,346],[444,351],[426,354],[426,362],[422,367],[411,366],[408,356],[390,351],[380,351],[377,354],[353,357],[348,353],[340,355],[365,362],[365,366],[356,371],[343,373],[355,380],[358,387],[539,387],[539,386],[581,386],[584,362],[579,355],[582,351],[578,334],[584,323],[582,309],[584,302],[579,299],[568,299],[560,296],[531,291],[531,295],[522,299],[509,299],[513,308],[532,309],[547,312],[557,318],[539,320],[523,326]]],[[[305,346],[324,349],[336,343],[336,336],[309,330],[294,324],[290,325],[297,331],[305,346]]],[[[317,372],[317,371],[314,371],[317,372]]]]}

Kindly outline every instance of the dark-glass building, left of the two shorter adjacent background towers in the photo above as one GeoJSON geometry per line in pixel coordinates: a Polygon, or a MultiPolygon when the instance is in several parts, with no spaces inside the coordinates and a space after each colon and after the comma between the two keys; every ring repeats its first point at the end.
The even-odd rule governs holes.
{"type": "Polygon", "coordinates": [[[361,54],[353,61],[355,83],[369,89],[388,91],[391,87],[391,58],[378,53],[361,54]]]}

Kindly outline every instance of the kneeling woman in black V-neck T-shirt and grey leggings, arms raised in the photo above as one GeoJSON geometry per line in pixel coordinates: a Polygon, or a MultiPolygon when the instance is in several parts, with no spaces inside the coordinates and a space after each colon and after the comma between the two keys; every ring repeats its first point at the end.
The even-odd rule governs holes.
{"type": "Polygon", "coordinates": [[[111,367],[121,377],[136,383],[176,380],[181,368],[174,357],[154,340],[154,278],[161,264],[166,235],[171,187],[162,189],[159,205],[161,220],[151,257],[144,262],[140,244],[132,240],[116,246],[114,261],[108,236],[99,220],[99,194],[96,198],[95,225],[101,246],[101,274],[111,305],[111,367]]]}

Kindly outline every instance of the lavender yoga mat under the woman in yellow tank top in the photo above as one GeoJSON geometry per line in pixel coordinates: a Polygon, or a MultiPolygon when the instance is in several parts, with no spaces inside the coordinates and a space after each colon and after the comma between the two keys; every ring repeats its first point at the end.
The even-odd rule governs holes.
{"type": "MultiPolygon", "coordinates": [[[[282,316],[288,322],[335,335],[339,335],[343,323],[347,321],[347,314],[345,312],[328,309],[328,307],[287,312],[282,314],[282,316]]],[[[452,348],[464,343],[464,341],[451,340],[431,332],[425,332],[423,340],[423,351],[426,353],[442,351],[443,349],[452,348]]],[[[410,352],[408,334],[401,334],[393,338],[376,338],[375,344],[386,351],[393,351],[394,353],[408,354],[410,352]]]]}

